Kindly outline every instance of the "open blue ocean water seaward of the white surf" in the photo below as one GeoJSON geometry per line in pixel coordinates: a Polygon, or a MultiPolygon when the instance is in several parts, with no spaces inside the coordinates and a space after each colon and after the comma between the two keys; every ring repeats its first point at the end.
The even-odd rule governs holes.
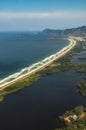
{"type": "Polygon", "coordinates": [[[41,33],[0,33],[0,79],[43,60],[69,44],[41,33]]]}

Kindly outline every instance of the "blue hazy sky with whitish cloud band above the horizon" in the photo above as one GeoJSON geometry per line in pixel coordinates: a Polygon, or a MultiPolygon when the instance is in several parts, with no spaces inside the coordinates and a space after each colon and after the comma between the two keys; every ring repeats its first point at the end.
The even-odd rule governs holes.
{"type": "Polygon", "coordinates": [[[86,0],[0,0],[0,32],[78,26],[86,26],[86,0]]]}

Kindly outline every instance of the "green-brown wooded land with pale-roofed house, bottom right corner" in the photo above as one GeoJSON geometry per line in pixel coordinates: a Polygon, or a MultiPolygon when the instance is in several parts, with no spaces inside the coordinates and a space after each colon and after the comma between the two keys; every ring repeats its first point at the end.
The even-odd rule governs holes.
{"type": "Polygon", "coordinates": [[[86,130],[86,108],[83,106],[66,111],[59,118],[64,123],[64,127],[55,130],[86,130]]]}

